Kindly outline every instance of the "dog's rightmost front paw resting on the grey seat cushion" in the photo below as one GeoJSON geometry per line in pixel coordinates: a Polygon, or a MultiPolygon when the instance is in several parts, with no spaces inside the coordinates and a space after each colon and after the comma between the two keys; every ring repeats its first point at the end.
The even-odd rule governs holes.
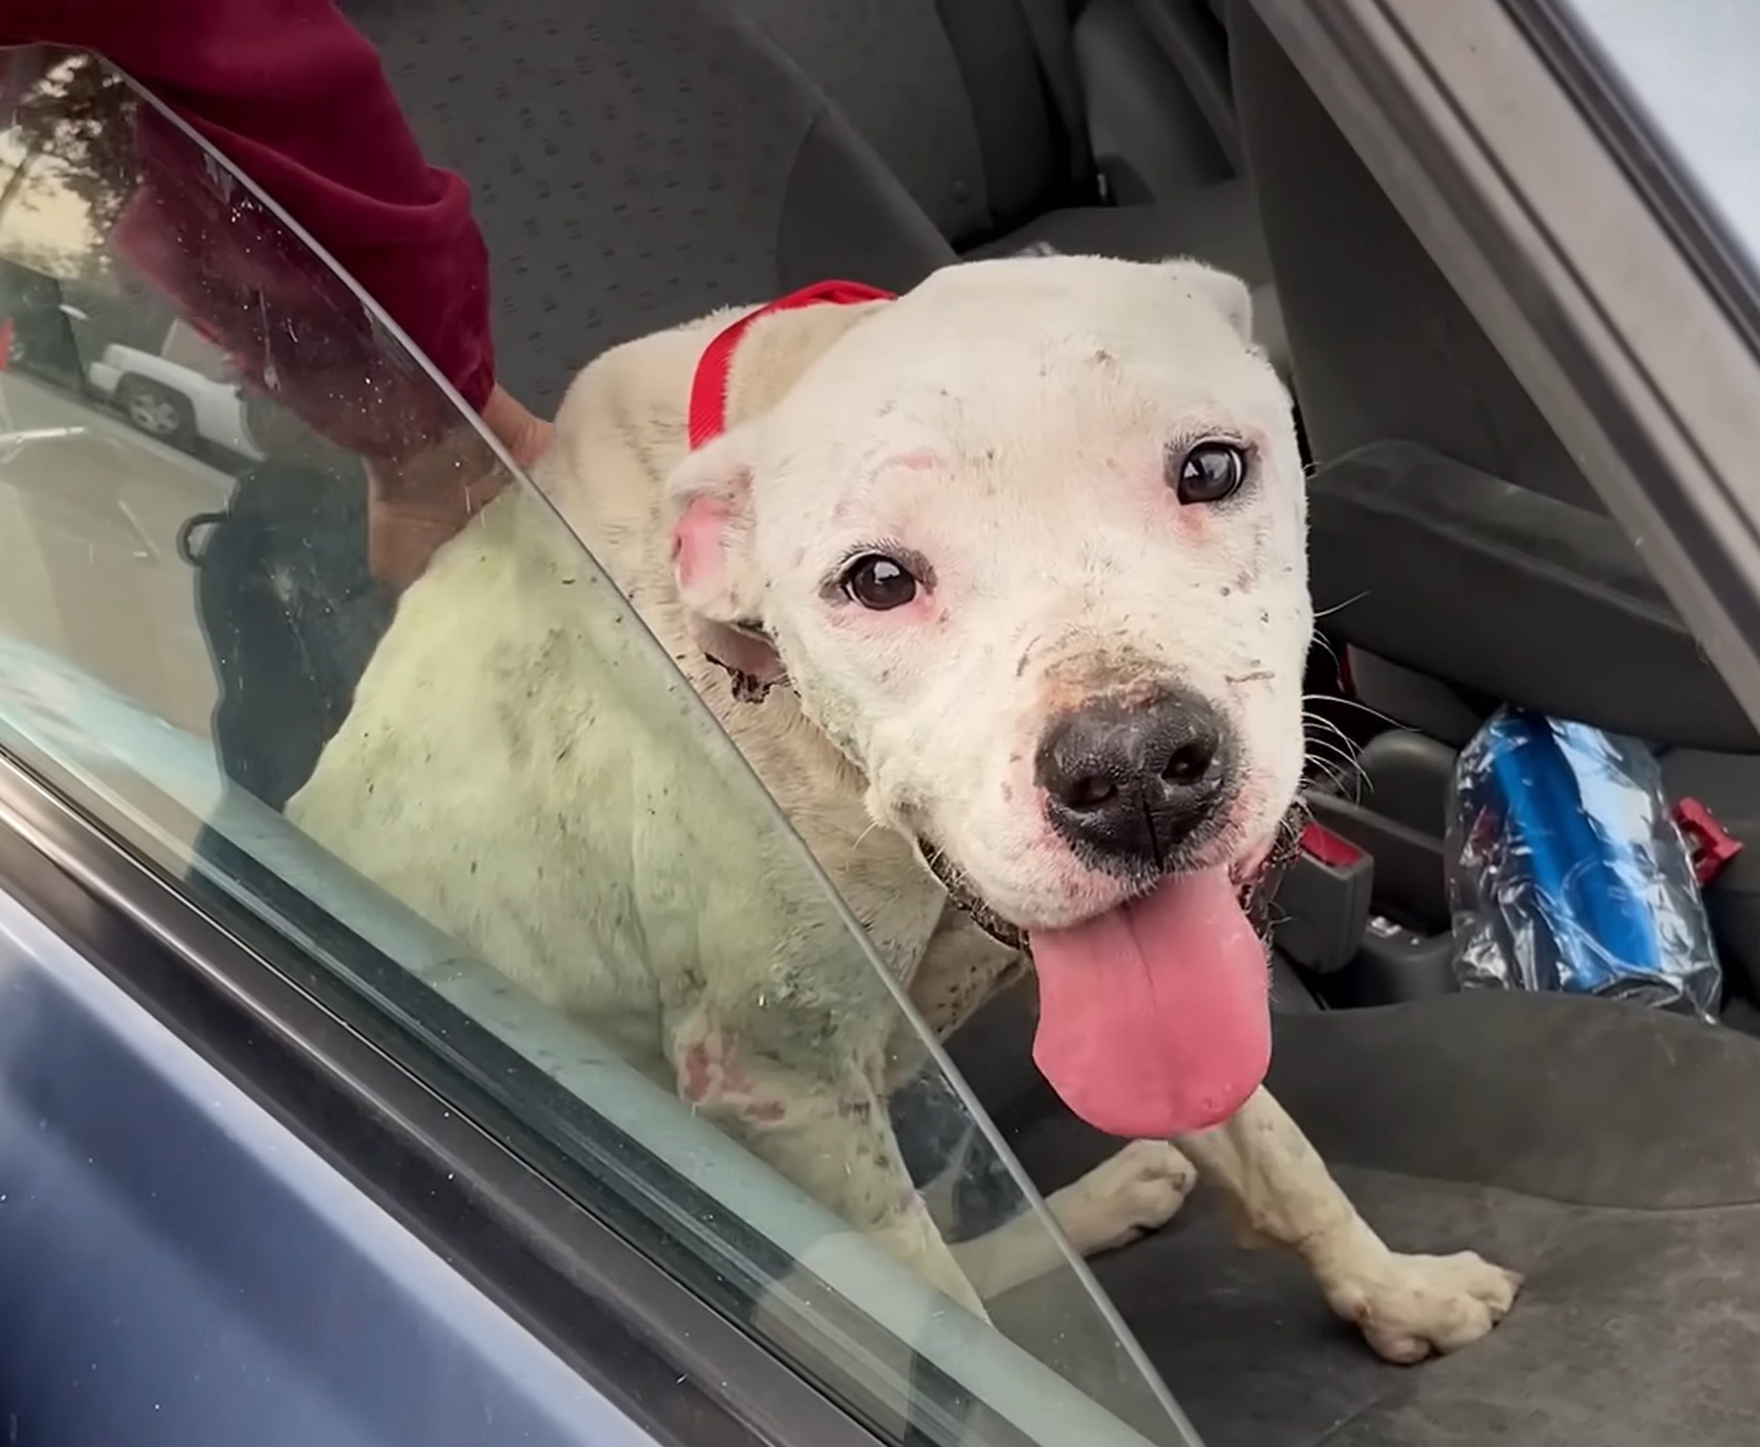
{"type": "Polygon", "coordinates": [[[1387,1361],[1417,1363],[1468,1347],[1515,1303],[1522,1278],[1475,1252],[1408,1257],[1387,1252],[1327,1287],[1327,1301],[1362,1327],[1387,1361]]]}

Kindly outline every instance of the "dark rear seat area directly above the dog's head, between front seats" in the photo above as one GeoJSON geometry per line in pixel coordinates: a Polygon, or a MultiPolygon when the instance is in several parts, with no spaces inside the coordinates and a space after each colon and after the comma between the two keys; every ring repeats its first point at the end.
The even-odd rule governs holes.
{"type": "Polygon", "coordinates": [[[1193,255],[1283,361],[1227,35],[1200,0],[734,0],[968,257],[1193,255]]]}

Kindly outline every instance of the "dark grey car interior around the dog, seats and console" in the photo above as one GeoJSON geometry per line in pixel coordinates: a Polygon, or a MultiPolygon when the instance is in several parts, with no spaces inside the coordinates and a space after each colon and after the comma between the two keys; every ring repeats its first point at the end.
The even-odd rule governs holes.
{"type": "MultiPolygon", "coordinates": [[[[611,345],[827,276],[1054,250],[1251,283],[1311,461],[1306,803],[1343,845],[1283,878],[1269,1084],[1392,1246],[1526,1287],[1484,1341],[1392,1366],[1202,1190],[1093,1274],[1213,1447],[1751,1442],[1760,734],[1253,5],[341,7],[473,188],[502,377],[539,412],[611,345]],[[1718,1025],[1459,989],[1448,787],[1505,704],[1646,741],[1705,820],[1718,1025]]],[[[1033,1019],[1028,982],[949,1053],[1051,1192],[1116,1142],[1037,1076],[1033,1019]]]]}

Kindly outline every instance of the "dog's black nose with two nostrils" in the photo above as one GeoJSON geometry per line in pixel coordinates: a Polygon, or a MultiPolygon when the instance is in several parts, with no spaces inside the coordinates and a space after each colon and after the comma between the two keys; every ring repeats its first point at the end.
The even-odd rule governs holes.
{"type": "Polygon", "coordinates": [[[1162,868],[1216,813],[1228,785],[1228,731],[1197,694],[1102,699],[1058,718],[1038,745],[1045,813],[1096,864],[1162,868]]]}

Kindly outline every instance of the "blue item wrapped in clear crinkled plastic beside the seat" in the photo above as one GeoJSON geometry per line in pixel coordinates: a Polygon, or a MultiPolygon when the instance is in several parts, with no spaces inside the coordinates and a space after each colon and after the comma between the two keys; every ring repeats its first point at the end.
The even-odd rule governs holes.
{"type": "Polygon", "coordinates": [[[1501,709],[1448,794],[1464,988],[1563,989],[1716,1019],[1723,979],[1654,755],[1501,709]]]}

